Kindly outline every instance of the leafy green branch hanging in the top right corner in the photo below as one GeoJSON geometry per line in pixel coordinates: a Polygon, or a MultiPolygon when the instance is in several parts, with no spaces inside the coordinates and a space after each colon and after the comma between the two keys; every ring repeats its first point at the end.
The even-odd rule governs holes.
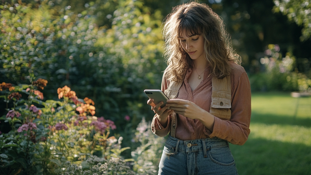
{"type": "Polygon", "coordinates": [[[282,12],[290,21],[303,26],[301,41],[311,36],[311,0],[274,0],[274,12],[282,12]]]}

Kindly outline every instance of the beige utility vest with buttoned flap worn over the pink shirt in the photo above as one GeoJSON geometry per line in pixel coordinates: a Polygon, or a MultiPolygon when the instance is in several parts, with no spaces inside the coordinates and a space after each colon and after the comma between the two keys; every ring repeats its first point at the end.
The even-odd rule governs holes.
{"type": "MultiPolygon", "coordinates": [[[[177,97],[179,88],[183,81],[171,81],[169,87],[164,91],[169,99],[177,97]]],[[[218,79],[212,78],[212,95],[211,95],[210,114],[220,118],[221,120],[230,120],[231,118],[231,83],[230,76],[218,79]]],[[[171,120],[171,136],[175,137],[177,127],[176,113],[172,114],[171,120]]]]}

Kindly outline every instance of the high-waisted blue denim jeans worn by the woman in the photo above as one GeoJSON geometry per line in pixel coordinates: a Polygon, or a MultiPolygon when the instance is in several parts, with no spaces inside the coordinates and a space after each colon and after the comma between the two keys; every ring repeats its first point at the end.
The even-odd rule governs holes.
{"type": "Polygon", "coordinates": [[[178,140],[169,135],[159,175],[237,175],[229,144],[219,138],[178,140]]]}

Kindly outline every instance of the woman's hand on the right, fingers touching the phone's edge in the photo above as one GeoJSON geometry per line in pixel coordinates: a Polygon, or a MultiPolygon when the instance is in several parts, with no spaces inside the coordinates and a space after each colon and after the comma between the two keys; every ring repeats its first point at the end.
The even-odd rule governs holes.
{"type": "Polygon", "coordinates": [[[204,115],[203,113],[207,112],[193,102],[182,99],[168,100],[166,106],[169,106],[169,109],[174,110],[177,114],[190,119],[197,119],[198,116],[202,116],[204,115]]]}

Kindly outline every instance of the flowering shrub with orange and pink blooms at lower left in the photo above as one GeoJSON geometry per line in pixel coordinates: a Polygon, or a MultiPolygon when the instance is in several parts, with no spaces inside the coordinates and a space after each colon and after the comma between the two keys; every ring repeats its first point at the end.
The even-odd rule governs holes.
{"type": "Polygon", "coordinates": [[[12,128],[0,135],[1,174],[15,170],[26,174],[59,174],[67,170],[66,161],[79,165],[92,154],[105,158],[102,168],[106,170],[122,164],[125,168],[120,154],[129,148],[121,148],[122,137],[118,140],[109,137],[110,130],[116,129],[114,122],[94,116],[93,100],[79,99],[67,86],[57,90],[63,100],[42,101],[39,89],[46,84],[46,80],[38,79],[30,85],[4,82],[0,85],[3,94],[0,97],[7,106],[13,103],[0,118],[12,128]],[[23,98],[24,95],[28,97],[23,98]]]}

